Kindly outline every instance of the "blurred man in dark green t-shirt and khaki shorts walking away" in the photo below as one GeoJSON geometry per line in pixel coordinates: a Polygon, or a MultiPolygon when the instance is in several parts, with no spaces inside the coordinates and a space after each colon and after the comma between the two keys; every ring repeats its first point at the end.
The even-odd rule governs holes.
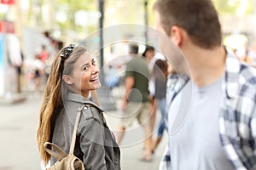
{"type": "Polygon", "coordinates": [[[129,53],[132,59],[126,64],[125,71],[125,95],[122,108],[123,117],[119,125],[117,136],[118,144],[121,143],[125,134],[125,129],[131,127],[131,124],[137,121],[143,126],[145,134],[145,152],[141,161],[151,161],[151,131],[149,117],[149,99],[148,99],[148,65],[146,60],[138,56],[137,44],[131,44],[129,53]]]}

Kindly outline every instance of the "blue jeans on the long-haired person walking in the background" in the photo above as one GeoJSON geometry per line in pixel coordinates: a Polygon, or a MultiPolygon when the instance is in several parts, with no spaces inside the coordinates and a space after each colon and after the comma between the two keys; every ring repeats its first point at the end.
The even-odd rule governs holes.
{"type": "Polygon", "coordinates": [[[158,124],[157,136],[162,137],[164,130],[166,129],[166,98],[158,100],[158,107],[161,112],[161,118],[158,124]]]}

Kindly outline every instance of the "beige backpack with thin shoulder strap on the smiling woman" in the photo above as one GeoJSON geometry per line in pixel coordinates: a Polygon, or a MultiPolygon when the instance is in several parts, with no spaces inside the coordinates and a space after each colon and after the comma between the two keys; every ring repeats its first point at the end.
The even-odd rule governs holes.
{"type": "Polygon", "coordinates": [[[49,142],[44,143],[44,150],[47,151],[50,156],[53,156],[57,160],[54,165],[46,168],[46,170],[84,170],[83,161],[79,160],[78,157],[73,155],[77,129],[79,127],[79,119],[83,108],[84,105],[82,107],[79,107],[78,109],[75,126],[73,127],[73,138],[68,155],[65,151],[61,150],[61,148],[56,144],[49,142]],[[51,149],[54,149],[55,151],[51,149]]]}

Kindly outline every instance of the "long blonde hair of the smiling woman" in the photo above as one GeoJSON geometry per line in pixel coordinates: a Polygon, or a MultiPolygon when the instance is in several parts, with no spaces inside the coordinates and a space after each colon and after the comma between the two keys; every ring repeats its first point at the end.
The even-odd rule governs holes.
{"type": "Polygon", "coordinates": [[[73,48],[72,54],[70,54],[67,59],[61,59],[61,51],[56,54],[51,66],[39,116],[37,133],[38,150],[45,164],[49,161],[50,156],[44,150],[44,142],[51,141],[55,119],[63,108],[62,99],[65,99],[68,91],[67,84],[62,81],[62,75],[71,75],[73,71],[73,64],[87,50],[84,47],[73,48]]]}

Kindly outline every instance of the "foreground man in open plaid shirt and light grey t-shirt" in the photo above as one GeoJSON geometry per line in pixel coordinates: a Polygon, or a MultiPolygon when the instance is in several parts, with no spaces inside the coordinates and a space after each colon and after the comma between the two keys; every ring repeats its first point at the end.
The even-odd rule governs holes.
{"type": "Polygon", "coordinates": [[[177,71],[167,81],[169,143],[160,169],[256,169],[256,71],[222,46],[212,1],[157,0],[154,9],[156,29],[172,40],[161,52],[177,71]],[[183,58],[170,54],[172,44],[183,58]]]}

